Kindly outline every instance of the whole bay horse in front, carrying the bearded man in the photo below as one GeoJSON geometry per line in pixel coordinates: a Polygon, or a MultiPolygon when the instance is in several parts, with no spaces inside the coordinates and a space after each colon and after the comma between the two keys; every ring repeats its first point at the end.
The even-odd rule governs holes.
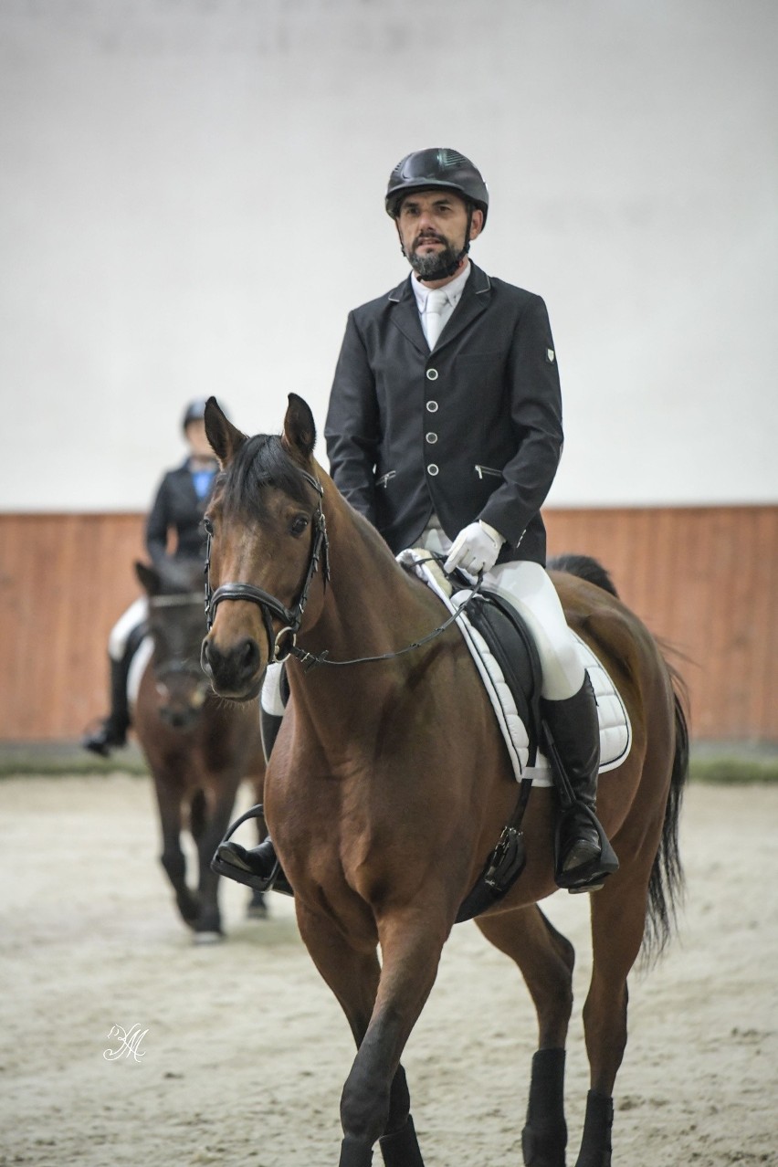
{"type": "MultiPolygon", "coordinates": [[[[288,661],[290,699],[265,809],[300,932],[358,1047],[341,1102],[338,1167],[367,1167],[377,1141],[386,1167],[423,1167],[400,1057],[457,909],[516,803],[507,750],[458,630],[429,635],[446,615],[440,601],[315,461],[308,405],[289,394],[280,436],[247,438],[215,398],[205,422],[223,473],[205,516],[203,662],[217,692],[241,701],[259,692],[269,659],[288,661]]],[[[577,1167],[609,1167],[628,973],[644,938],[667,938],[681,887],[688,738],[674,673],[637,616],[605,587],[570,574],[554,582],[632,725],[628,759],[600,783],[598,816],[621,869],[590,896],[583,1008],[590,1090],[577,1167]]],[[[533,790],[524,873],[476,918],[516,962],[538,1014],[523,1131],[532,1167],[566,1162],[574,951],[538,907],[556,890],[554,820],[554,791],[533,790]]]]}

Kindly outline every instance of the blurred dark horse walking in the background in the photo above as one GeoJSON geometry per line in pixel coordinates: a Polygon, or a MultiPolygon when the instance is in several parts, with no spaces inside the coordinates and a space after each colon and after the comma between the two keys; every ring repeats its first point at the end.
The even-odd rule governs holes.
{"type": "MultiPolygon", "coordinates": [[[[218,881],[210,860],[232,815],[243,778],[261,801],[265,778],[259,708],[225,704],[199,664],[205,631],[203,564],[170,560],[163,567],[136,564],[148,594],[153,642],[133,708],[133,726],[154,778],[162,825],[162,866],[183,921],[198,942],[222,935],[218,881]],[[181,833],[188,826],[197,847],[197,886],[187,883],[181,833]]],[[[260,837],[266,833],[264,824],[260,837]]],[[[252,914],[261,915],[257,893],[252,914]]]]}

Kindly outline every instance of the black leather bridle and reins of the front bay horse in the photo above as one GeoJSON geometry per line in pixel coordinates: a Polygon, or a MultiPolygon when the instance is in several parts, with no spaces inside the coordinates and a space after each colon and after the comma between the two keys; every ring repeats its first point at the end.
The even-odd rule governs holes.
{"type": "MultiPolygon", "coordinates": [[[[415,649],[422,648],[422,645],[428,644],[434,641],[437,636],[446,631],[447,628],[454,623],[455,620],[464,612],[470,600],[476,595],[483,584],[483,573],[478,574],[478,580],[476,586],[469,593],[467,600],[464,600],[456,612],[434,628],[432,633],[427,633],[421,640],[413,641],[412,644],[406,644],[405,648],[395,649],[390,652],[381,652],[379,656],[367,656],[367,657],[353,657],[351,661],[332,661],[329,656],[329,650],[323,652],[307,652],[297,645],[297,633],[300,631],[300,626],[302,624],[303,613],[306,610],[306,605],[308,603],[308,593],[310,592],[310,585],[313,582],[314,575],[318,568],[321,561],[324,572],[324,587],[330,579],[329,568],[329,540],[327,536],[327,523],[324,519],[324,511],[322,510],[322,498],[324,497],[324,490],[321,482],[308,474],[307,470],[300,470],[306,482],[318,495],[318,504],[316,511],[314,512],[314,525],[315,534],[313,546],[310,548],[310,559],[308,560],[308,569],[306,572],[306,578],[297,598],[297,602],[294,608],[288,608],[282,603],[276,596],[271,595],[269,592],[265,592],[261,587],[255,587],[253,584],[222,584],[216,591],[211,588],[211,539],[213,536],[213,527],[209,519],[205,519],[205,533],[208,536],[208,546],[205,552],[205,622],[208,624],[208,630],[210,633],[213,627],[213,617],[217,607],[224,600],[247,600],[251,603],[255,603],[262,614],[262,622],[265,624],[265,630],[267,633],[267,643],[271,649],[271,664],[276,662],[286,661],[287,657],[293,656],[303,666],[304,672],[309,672],[315,669],[316,665],[353,665],[353,664],[372,664],[379,661],[393,661],[395,657],[405,656],[406,652],[413,652],[415,649]],[[280,633],[274,634],[273,631],[273,617],[280,620],[283,623],[280,633]],[[282,638],[287,638],[287,643],[282,644],[282,638]]],[[[430,555],[429,560],[434,560],[435,557],[430,555]]],[[[428,562],[429,560],[421,560],[421,562],[428,562]]]]}

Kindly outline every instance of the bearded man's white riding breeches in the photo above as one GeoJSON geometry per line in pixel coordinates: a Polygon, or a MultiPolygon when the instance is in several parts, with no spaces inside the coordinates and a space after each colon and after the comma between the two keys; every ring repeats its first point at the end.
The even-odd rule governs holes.
{"type": "MultiPolygon", "coordinates": [[[[451,540],[435,516],[419,545],[440,554],[450,551],[451,540]]],[[[483,586],[484,591],[503,596],[526,621],[540,657],[541,692],[546,700],[563,701],[577,693],[586,676],[583,663],[546,568],[527,560],[497,564],[484,572],[483,586]]]]}

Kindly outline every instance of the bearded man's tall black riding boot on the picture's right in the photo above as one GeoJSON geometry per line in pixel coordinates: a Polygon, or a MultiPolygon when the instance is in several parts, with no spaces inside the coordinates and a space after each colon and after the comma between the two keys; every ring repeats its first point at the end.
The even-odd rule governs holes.
{"type": "Polygon", "coordinates": [[[542,717],[561,803],[554,876],[570,892],[596,892],[607,875],[618,871],[618,859],[595,813],[600,725],[589,675],[573,697],[544,700],[542,717]]]}

